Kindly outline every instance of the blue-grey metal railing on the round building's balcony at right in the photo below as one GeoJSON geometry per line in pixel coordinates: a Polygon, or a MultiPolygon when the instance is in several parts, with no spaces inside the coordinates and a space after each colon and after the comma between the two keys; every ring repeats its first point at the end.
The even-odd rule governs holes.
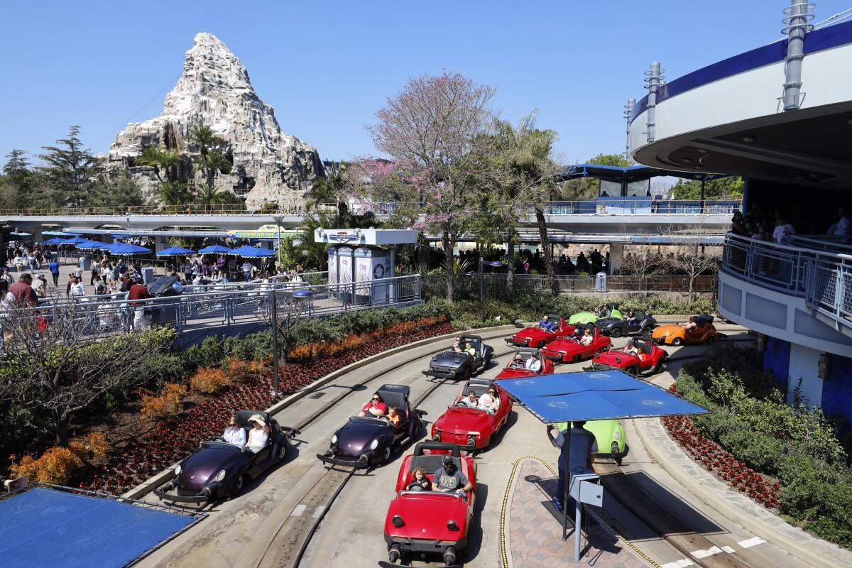
{"type": "Polygon", "coordinates": [[[775,244],[728,234],[722,270],[763,288],[803,298],[815,311],[852,328],[852,255],[846,244],[809,236],[775,244]],[[802,246],[811,244],[812,246],[802,246]]]}

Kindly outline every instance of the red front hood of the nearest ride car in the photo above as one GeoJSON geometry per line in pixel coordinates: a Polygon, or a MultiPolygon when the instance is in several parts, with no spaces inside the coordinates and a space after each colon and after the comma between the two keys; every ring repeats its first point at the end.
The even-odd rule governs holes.
{"type": "Polygon", "coordinates": [[[390,502],[384,531],[397,538],[458,541],[468,534],[468,502],[434,491],[403,492],[390,502]],[[405,525],[394,526],[397,514],[405,525]],[[458,524],[458,531],[447,528],[451,519],[458,524]]]}

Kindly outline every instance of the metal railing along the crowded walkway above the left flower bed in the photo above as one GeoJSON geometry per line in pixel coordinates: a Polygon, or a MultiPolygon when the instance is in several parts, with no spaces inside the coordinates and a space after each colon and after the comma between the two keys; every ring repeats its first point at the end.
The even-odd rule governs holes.
{"type": "MultiPolygon", "coordinates": [[[[202,287],[199,287],[199,289],[202,287]]],[[[366,280],[346,284],[207,284],[204,291],[147,300],[128,301],[124,294],[83,296],[52,300],[29,308],[45,318],[59,304],[76,302],[73,319],[83,333],[122,333],[151,324],[170,325],[179,333],[234,324],[256,324],[268,320],[272,295],[300,301],[302,316],[315,318],[369,307],[410,304],[421,300],[419,274],[366,280]],[[117,297],[118,296],[118,297],[117,297]]]]}

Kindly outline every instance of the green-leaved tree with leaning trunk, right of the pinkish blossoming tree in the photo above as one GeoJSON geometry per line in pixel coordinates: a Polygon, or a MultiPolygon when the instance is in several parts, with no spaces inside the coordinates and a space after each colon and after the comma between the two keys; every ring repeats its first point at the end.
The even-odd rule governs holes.
{"type": "MultiPolygon", "coordinates": [[[[522,117],[517,127],[507,121],[498,121],[496,126],[498,146],[505,160],[505,200],[513,209],[517,208],[517,200],[526,199],[533,206],[538,225],[538,236],[544,250],[544,267],[547,270],[547,281],[550,290],[556,294],[559,288],[556,284],[556,273],[553,267],[553,254],[550,250],[550,238],[547,234],[547,221],[544,218],[544,204],[550,198],[556,187],[556,179],[561,168],[551,157],[556,132],[535,127],[535,117],[538,111],[533,111],[522,117]]],[[[512,242],[512,230],[509,227],[509,281],[513,275],[515,247],[512,242]]]]}

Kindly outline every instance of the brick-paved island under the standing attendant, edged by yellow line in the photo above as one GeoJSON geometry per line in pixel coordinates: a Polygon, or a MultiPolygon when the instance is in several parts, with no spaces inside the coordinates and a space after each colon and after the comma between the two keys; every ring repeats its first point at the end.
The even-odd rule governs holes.
{"type": "MultiPolygon", "coordinates": [[[[514,568],[596,566],[642,568],[645,563],[602,527],[584,533],[579,563],[573,561],[573,534],[562,540],[561,513],[550,504],[556,478],[536,460],[518,468],[509,513],[509,561],[514,568]]],[[[508,552],[508,551],[507,551],[508,552]]]]}

